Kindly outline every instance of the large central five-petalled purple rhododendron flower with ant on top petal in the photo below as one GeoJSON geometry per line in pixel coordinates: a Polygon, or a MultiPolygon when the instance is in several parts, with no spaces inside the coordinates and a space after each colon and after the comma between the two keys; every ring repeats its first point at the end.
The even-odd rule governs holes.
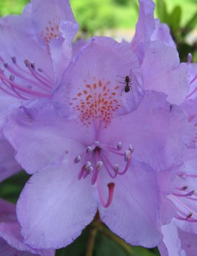
{"type": "Polygon", "coordinates": [[[4,128],[17,160],[36,172],[17,204],[25,243],[65,246],[99,209],[101,220],[127,242],[159,244],[154,170],[182,159],[193,132],[187,115],[164,93],[143,92],[138,58],[110,38],[95,37],[83,47],[53,102],[22,106],[4,128]],[[125,93],[130,70],[132,90],[125,93]]]}

